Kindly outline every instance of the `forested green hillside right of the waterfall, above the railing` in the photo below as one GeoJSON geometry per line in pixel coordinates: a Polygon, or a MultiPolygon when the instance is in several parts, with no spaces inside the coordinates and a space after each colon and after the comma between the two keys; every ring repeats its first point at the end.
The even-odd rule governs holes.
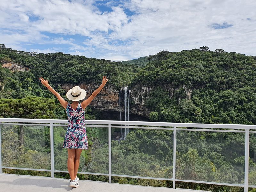
{"type": "Polygon", "coordinates": [[[256,124],[256,57],[208,48],[161,51],[132,80],[158,87],[146,101],[164,122],[256,124]],[[173,88],[169,95],[162,87],[173,88]]]}

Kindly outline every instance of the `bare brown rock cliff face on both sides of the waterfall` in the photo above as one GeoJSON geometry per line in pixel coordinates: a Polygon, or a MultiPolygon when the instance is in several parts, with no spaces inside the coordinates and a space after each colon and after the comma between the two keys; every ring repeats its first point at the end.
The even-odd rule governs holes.
{"type": "MultiPolygon", "coordinates": [[[[61,87],[66,90],[72,89],[74,85],[72,84],[62,84],[61,87]]],[[[92,92],[94,92],[99,86],[95,85],[95,82],[90,83],[80,83],[78,86],[84,89],[87,92],[85,99],[91,96],[92,92]]],[[[182,87],[182,86],[180,86],[182,87]]],[[[176,88],[179,89],[180,87],[176,88]]],[[[152,91],[156,89],[155,86],[148,86],[148,85],[135,85],[130,90],[130,100],[129,100],[129,113],[134,115],[140,115],[149,118],[149,113],[152,111],[150,108],[145,106],[145,100],[149,98],[149,95],[152,91]]],[[[170,98],[173,97],[173,92],[176,90],[170,84],[163,86],[167,92],[169,92],[170,98]]],[[[187,89],[183,86],[184,92],[187,95],[187,99],[191,98],[192,90],[187,89]]],[[[121,91],[114,89],[111,85],[106,84],[105,87],[100,91],[100,93],[92,100],[91,104],[94,108],[97,108],[102,111],[115,111],[119,112],[119,94],[121,95],[121,112],[124,113],[125,111],[125,88],[122,87],[121,91]]],[[[128,98],[129,98],[129,87],[127,87],[127,107],[126,111],[128,111],[128,98]]],[[[122,120],[124,118],[122,117],[122,120]]]]}

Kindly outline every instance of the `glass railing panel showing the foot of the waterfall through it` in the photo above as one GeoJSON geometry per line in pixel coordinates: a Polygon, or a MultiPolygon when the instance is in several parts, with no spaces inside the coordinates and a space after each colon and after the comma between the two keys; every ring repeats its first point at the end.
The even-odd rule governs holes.
{"type": "Polygon", "coordinates": [[[112,128],[112,173],[172,178],[173,130],[112,128]]]}

